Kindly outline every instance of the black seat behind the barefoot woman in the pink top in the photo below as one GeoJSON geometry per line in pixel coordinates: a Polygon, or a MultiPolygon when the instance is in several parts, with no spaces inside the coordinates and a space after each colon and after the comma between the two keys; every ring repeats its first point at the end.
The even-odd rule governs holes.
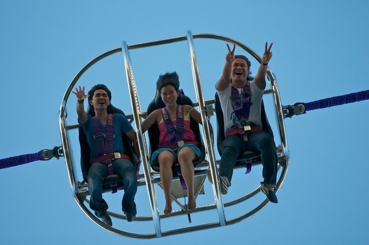
{"type": "MultiPolygon", "coordinates": [[[[192,100],[188,96],[183,94],[182,90],[180,90],[178,92],[177,104],[193,106],[192,100]]],[[[155,98],[150,102],[150,104],[148,106],[147,114],[150,115],[152,112],[154,112],[154,110],[163,108],[165,106],[166,106],[165,103],[161,100],[159,91],[156,91],[155,98]]],[[[195,159],[195,161],[194,161],[194,165],[197,165],[197,164],[203,162],[203,160],[205,158],[205,154],[206,154],[205,146],[203,144],[202,137],[201,137],[201,134],[200,134],[199,124],[195,120],[191,119],[191,126],[190,127],[191,127],[192,131],[194,132],[196,140],[200,144],[199,149],[201,151],[201,156],[199,158],[195,159]]],[[[151,154],[159,148],[158,144],[159,144],[160,132],[159,132],[159,128],[158,128],[157,124],[153,124],[148,129],[148,134],[149,134],[149,141],[150,141],[150,156],[151,156],[151,154]]],[[[159,170],[155,166],[152,166],[152,167],[155,171],[159,170]]],[[[179,164],[174,164],[173,165],[173,170],[177,171],[178,169],[179,169],[179,164]]]]}

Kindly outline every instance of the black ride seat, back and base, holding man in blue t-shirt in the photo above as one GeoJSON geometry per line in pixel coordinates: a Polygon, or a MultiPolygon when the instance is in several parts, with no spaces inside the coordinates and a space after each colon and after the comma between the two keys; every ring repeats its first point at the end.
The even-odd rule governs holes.
{"type": "MultiPolygon", "coordinates": [[[[121,114],[121,115],[125,115],[124,112],[122,112],[121,109],[116,108],[115,106],[113,106],[112,104],[108,105],[107,107],[107,112],[108,114],[121,114]]],[[[94,109],[89,105],[88,109],[87,109],[87,113],[89,115],[91,115],[91,117],[95,116],[95,111],[94,109]]],[[[83,174],[83,179],[86,183],[88,183],[87,180],[87,173],[90,169],[90,148],[87,144],[87,138],[86,138],[86,133],[85,130],[83,129],[83,127],[81,125],[78,126],[78,133],[79,133],[79,145],[80,145],[80,154],[81,154],[81,158],[80,158],[80,164],[81,164],[81,170],[82,170],[82,174],[83,174]]],[[[122,142],[123,142],[123,146],[125,148],[125,154],[128,155],[128,157],[131,159],[131,162],[133,163],[133,165],[136,168],[136,171],[139,170],[139,162],[138,162],[138,158],[137,158],[137,154],[134,151],[133,148],[133,143],[132,141],[123,133],[122,134],[122,142]]],[[[104,182],[103,182],[103,189],[109,189],[111,190],[110,184],[111,183],[117,183],[118,185],[118,190],[119,189],[123,189],[123,183],[121,180],[121,177],[117,174],[111,174],[105,177],[104,182]]]]}

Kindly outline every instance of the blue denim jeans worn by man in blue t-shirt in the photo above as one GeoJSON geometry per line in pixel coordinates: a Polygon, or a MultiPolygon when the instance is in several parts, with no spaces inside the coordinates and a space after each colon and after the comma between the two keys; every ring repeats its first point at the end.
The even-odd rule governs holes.
{"type": "MultiPolygon", "coordinates": [[[[120,175],[124,184],[122,211],[137,214],[134,196],[137,192],[136,169],[127,159],[117,159],[112,162],[114,174],[120,175]]],[[[90,208],[101,218],[108,210],[108,204],[103,199],[103,181],[109,175],[108,165],[99,162],[92,164],[88,174],[88,189],[90,192],[90,208]]]]}

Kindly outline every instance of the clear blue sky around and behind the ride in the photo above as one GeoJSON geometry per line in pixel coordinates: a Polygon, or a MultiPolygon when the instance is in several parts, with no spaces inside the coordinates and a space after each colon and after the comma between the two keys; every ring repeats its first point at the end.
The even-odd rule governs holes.
{"type": "MultiPolygon", "coordinates": [[[[90,60],[120,47],[123,40],[134,44],[182,36],[191,30],[234,38],[260,55],[265,41],[273,42],[270,69],[277,75],[283,104],[368,89],[366,1],[2,0],[0,6],[0,81],[6,103],[0,121],[0,159],[60,145],[57,113],[70,81],[90,60]]],[[[195,49],[204,96],[211,99],[226,44],[195,40],[195,49]]],[[[133,50],[131,56],[142,108],[154,96],[158,75],[167,71],[177,71],[181,87],[195,98],[186,42],[133,50]]],[[[122,60],[116,54],[94,65],[78,84],[106,83],[113,91],[113,104],[130,113],[122,60]]],[[[254,74],[256,67],[253,62],[254,74]]],[[[1,243],[367,244],[368,105],[363,101],[286,119],[291,161],[278,192],[279,204],[269,204],[236,225],[200,232],[132,240],[101,229],[76,205],[64,159],[0,170],[1,243]]],[[[67,109],[73,124],[74,98],[67,109]]],[[[267,109],[274,123],[273,110],[267,109]]],[[[212,124],[216,125],[214,119],[212,124]]],[[[76,132],[71,135],[78,161],[76,132]]],[[[224,198],[256,187],[260,171],[255,168],[246,176],[237,173],[229,197],[224,198]]],[[[206,191],[211,194],[209,183],[206,191]]],[[[119,203],[120,194],[108,196],[109,204],[119,203]]],[[[162,194],[158,195],[162,210],[162,194]]],[[[261,194],[257,198],[262,199],[261,194]]],[[[199,196],[198,204],[205,200],[199,196]]],[[[138,212],[147,214],[143,189],[136,201],[138,212]]],[[[245,203],[244,208],[248,207],[245,203]]],[[[241,205],[226,212],[233,216],[242,209],[241,205]]],[[[193,221],[198,222],[201,215],[194,214],[193,221]]],[[[216,214],[211,218],[216,219],[216,214]]],[[[187,222],[187,217],[162,221],[167,228],[173,222],[187,222]]],[[[153,229],[150,222],[121,222],[119,226],[153,229]]]]}

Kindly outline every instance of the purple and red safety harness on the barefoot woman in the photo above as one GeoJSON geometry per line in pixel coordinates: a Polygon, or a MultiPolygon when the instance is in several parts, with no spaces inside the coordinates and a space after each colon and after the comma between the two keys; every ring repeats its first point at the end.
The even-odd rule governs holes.
{"type": "MultiPolygon", "coordinates": [[[[177,105],[176,108],[176,125],[173,124],[172,119],[169,114],[169,110],[166,107],[160,109],[161,117],[166,127],[166,132],[169,136],[169,142],[158,145],[159,148],[170,148],[172,150],[177,150],[184,144],[193,144],[199,146],[197,141],[183,141],[183,135],[185,133],[185,115],[183,113],[183,106],[177,105]]],[[[187,185],[181,172],[178,172],[179,180],[183,190],[187,190],[187,185]]]]}

